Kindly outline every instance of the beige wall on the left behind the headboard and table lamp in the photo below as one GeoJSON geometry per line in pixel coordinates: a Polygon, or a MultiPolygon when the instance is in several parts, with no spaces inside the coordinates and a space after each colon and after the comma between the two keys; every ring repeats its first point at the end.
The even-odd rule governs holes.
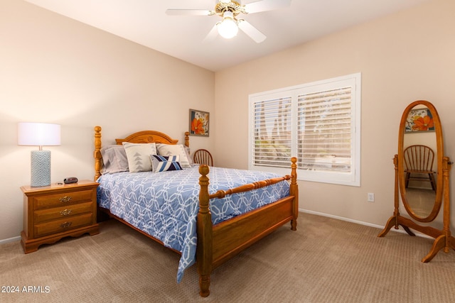
{"type": "MultiPolygon", "coordinates": [[[[19,236],[30,184],[31,146],[18,146],[19,121],[60,123],[52,182],[92,179],[93,127],[103,142],[155,129],[183,140],[188,109],[213,113],[215,75],[80,22],[17,0],[0,1],[0,240],[19,236]]],[[[191,137],[193,149],[214,147],[191,137]]]]}

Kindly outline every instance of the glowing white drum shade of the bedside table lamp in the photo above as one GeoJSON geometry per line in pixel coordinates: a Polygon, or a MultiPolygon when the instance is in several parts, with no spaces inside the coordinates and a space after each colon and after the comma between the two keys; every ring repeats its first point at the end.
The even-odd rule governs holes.
{"type": "Polygon", "coordinates": [[[50,123],[18,123],[17,144],[33,146],[60,145],[60,125],[50,123]]]}

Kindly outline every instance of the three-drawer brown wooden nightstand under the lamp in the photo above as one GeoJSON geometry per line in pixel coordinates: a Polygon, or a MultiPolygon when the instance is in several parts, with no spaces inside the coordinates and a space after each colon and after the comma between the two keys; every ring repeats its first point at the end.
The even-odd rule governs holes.
{"type": "Polygon", "coordinates": [[[63,237],[99,233],[97,224],[97,182],[80,180],[73,184],[21,187],[23,192],[23,231],[25,253],[41,244],[63,237]]]}

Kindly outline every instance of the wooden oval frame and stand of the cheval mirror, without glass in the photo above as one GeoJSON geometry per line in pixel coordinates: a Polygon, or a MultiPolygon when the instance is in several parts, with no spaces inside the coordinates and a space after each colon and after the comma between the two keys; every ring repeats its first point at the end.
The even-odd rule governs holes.
{"type": "Polygon", "coordinates": [[[450,188],[449,188],[449,173],[451,169],[452,162],[450,162],[449,157],[444,156],[444,142],[442,137],[442,127],[441,121],[439,120],[439,114],[436,108],[429,101],[419,100],[412,102],[405,111],[403,112],[402,119],[400,122],[400,131],[398,135],[398,154],[393,158],[393,163],[395,165],[395,211],[393,216],[387,221],[385,228],[380,232],[378,237],[385,236],[392,227],[399,229],[399,226],[405,229],[405,231],[410,236],[415,236],[415,234],[410,230],[410,228],[424,233],[428,236],[435,238],[432,249],[429,253],[422,258],[422,262],[427,263],[439,252],[439,250],[444,248],[445,253],[449,253],[450,248],[455,249],[455,238],[451,236],[450,231],[450,188]],[[434,206],[432,212],[427,217],[419,217],[414,214],[410,204],[407,201],[406,197],[406,188],[405,188],[405,168],[404,168],[404,138],[405,138],[405,127],[407,116],[410,114],[410,111],[414,109],[415,106],[422,105],[427,107],[432,114],[434,120],[434,131],[436,133],[437,141],[437,191],[436,198],[434,201],[434,206]],[[405,206],[407,214],[410,215],[412,219],[419,222],[431,222],[436,219],[439,211],[441,210],[441,205],[443,204],[443,228],[441,230],[434,228],[432,226],[422,226],[414,222],[412,219],[409,219],[405,216],[400,215],[400,194],[402,198],[402,203],[405,206]]]}

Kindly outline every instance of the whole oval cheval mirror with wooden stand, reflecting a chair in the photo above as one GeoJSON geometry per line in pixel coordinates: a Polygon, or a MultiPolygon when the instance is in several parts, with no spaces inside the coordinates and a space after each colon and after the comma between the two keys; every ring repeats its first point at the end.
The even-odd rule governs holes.
{"type": "Polygon", "coordinates": [[[444,156],[441,121],[429,101],[414,101],[403,112],[398,133],[398,155],[395,165],[395,211],[378,237],[390,228],[402,226],[435,238],[432,249],[422,262],[432,260],[439,250],[455,249],[450,232],[449,172],[452,162],[444,156]],[[400,215],[400,197],[410,219],[400,215]],[[441,230],[428,226],[443,211],[441,230]],[[427,225],[421,225],[425,223],[427,225]]]}

